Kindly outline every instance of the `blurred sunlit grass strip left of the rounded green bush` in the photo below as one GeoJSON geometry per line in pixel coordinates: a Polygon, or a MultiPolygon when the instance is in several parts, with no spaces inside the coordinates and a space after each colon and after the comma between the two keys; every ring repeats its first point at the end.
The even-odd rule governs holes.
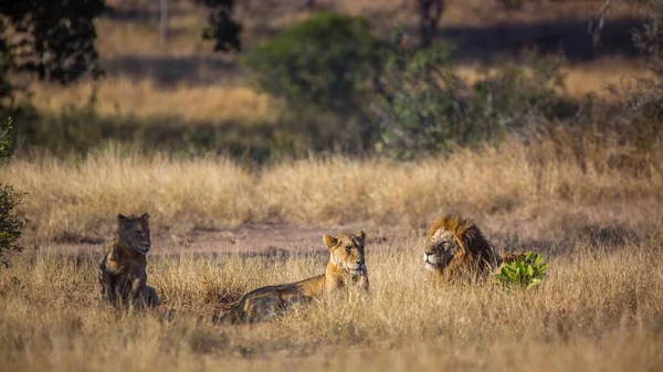
{"type": "Polygon", "coordinates": [[[245,125],[265,120],[265,95],[235,84],[161,87],[150,77],[117,77],[99,83],[83,82],[66,88],[41,85],[33,89],[40,113],[57,115],[64,107],[82,107],[96,89],[96,113],[102,117],[133,115],[137,118],[176,117],[191,123],[240,121],[245,125]]]}

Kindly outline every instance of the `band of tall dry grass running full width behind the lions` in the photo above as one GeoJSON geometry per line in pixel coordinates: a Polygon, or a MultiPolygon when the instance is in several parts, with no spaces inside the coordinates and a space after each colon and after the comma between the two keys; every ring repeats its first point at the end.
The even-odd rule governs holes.
{"type": "Polygon", "coordinates": [[[591,223],[660,228],[657,158],[639,162],[636,172],[609,166],[623,155],[619,147],[590,148],[579,157],[549,140],[509,140],[406,163],[330,157],[250,169],[219,157],[140,156],[110,147],[77,161],[18,159],[4,167],[0,182],[28,192],[20,211],[40,238],[107,236],[118,212],[144,211],[159,230],[275,216],[312,225],[420,226],[450,211],[538,221],[530,234],[547,238],[591,223]]]}

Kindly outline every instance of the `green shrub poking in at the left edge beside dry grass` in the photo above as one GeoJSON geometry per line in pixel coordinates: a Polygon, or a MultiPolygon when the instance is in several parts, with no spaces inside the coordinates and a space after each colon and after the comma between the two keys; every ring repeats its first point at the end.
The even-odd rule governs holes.
{"type": "MultiPolygon", "coordinates": [[[[7,161],[12,153],[11,118],[0,127],[0,162],[7,161]]],[[[23,193],[14,191],[10,184],[0,183],[0,264],[8,266],[9,255],[22,251],[18,244],[21,228],[28,220],[13,214],[21,203],[23,193]]]]}

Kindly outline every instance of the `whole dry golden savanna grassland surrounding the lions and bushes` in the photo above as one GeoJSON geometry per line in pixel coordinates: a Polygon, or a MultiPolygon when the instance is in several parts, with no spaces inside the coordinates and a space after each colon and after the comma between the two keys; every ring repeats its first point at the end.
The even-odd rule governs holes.
{"type": "MultiPolygon", "coordinates": [[[[415,26],[400,0],[302,3],[240,7],[248,47],[319,9],[366,15],[378,33],[415,26]]],[[[498,67],[482,52],[508,59],[532,40],[549,52],[559,32],[586,35],[603,1],[525,3],[449,1],[442,33],[470,40],[454,72],[472,81],[477,67],[498,67]],[[517,26],[505,33],[505,24],[517,26]]],[[[19,136],[0,164],[0,183],[27,193],[18,213],[30,220],[24,251],[0,267],[0,371],[663,370],[663,131],[651,99],[661,91],[603,91],[650,74],[644,59],[614,46],[641,15],[625,2],[607,15],[596,55],[561,45],[570,47],[560,97],[610,99],[408,161],[220,151],[273,146],[273,98],[245,81],[236,56],[200,39],[200,6],[171,1],[161,41],[156,2],[108,4],[96,42],[106,78],[35,83],[31,103],[45,119],[29,129],[46,146],[27,148],[19,136]],[[173,139],[211,145],[148,146],[173,139]],[[148,284],[161,305],[116,312],[102,301],[98,263],[117,213],[146,211],[148,284]],[[454,212],[501,253],[540,252],[543,285],[435,281],[421,259],[424,231],[454,212]],[[368,236],[370,300],[323,300],[251,326],[211,322],[251,289],[322,274],[322,234],[358,230],[368,236]]]]}

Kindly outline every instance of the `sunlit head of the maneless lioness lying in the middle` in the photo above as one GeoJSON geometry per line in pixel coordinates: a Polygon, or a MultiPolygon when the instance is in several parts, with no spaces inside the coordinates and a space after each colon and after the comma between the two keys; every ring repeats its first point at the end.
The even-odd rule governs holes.
{"type": "Polygon", "coordinates": [[[329,249],[332,263],[351,276],[366,275],[364,261],[364,242],[366,234],[339,234],[336,237],[324,235],[323,241],[329,249]]]}

